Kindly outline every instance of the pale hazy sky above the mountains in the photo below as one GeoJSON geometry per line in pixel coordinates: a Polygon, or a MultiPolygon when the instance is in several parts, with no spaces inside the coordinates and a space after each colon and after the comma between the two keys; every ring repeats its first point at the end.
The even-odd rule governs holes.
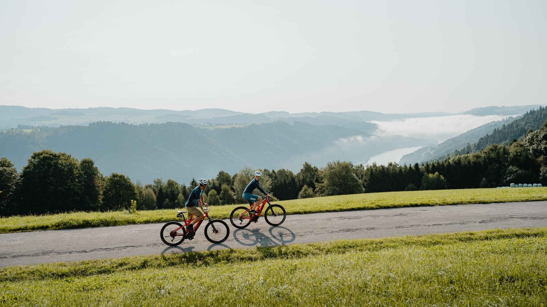
{"type": "Polygon", "coordinates": [[[458,112],[545,104],[547,1],[0,1],[0,104],[458,112]]]}

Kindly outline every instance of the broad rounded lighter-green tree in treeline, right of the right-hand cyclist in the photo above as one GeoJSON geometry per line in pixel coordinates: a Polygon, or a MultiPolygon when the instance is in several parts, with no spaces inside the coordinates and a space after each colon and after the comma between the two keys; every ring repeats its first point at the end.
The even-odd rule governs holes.
{"type": "Polygon", "coordinates": [[[339,160],[327,163],[322,168],[322,176],[329,195],[363,193],[363,185],[353,172],[351,162],[339,160]]]}

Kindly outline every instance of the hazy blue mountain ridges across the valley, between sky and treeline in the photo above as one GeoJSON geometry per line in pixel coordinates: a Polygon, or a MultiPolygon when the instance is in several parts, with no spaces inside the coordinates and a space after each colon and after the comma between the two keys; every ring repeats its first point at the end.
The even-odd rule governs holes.
{"type": "MultiPolygon", "coordinates": [[[[486,107],[458,114],[516,115],[534,108],[537,105],[486,107]]],[[[89,157],[104,174],[123,173],[143,182],[160,177],[188,182],[191,178],[212,177],[219,170],[233,174],[244,166],[298,172],[304,162],[317,167],[334,160],[360,163],[390,150],[431,144],[430,140],[401,135],[379,137],[375,135],[379,126],[369,121],[389,124],[411,117],[447,115],[455,114],[373,111],[250,114],[224,109],[54,110],[0,105],[0,129],[3,129],[0,157],[7,157],[20,170],[33,151],[51,149],[78,159],[89,157]],[[19,129],[10,129],[13,127],[19,129]],[[37,127],[41,127],[40,131],[37,127]]],[[[400,162],[414,164],[450,155],[504,123],[508,125],[508,122],[487,124],[445,143],[423,147],[400,162]]]]}

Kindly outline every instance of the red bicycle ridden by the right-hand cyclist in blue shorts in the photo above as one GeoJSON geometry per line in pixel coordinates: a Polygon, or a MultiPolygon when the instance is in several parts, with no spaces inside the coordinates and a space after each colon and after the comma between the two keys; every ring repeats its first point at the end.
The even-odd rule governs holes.
{"type": "Polygon", "coordinates": [[[251,222],[256,223],[266,204],[268,204],[266,207],[266,212],[264,213],[266,223],[271,226],[281,225],[285,221],[285,217],[287,217],[287,212],[285,212],[285,208],[281,205],[270,204],[270,200],[267,196],[260,202],[260,204],[258,204],[257,214],[252,214],[250,212],[253,205],[250,205],[250,208],[247,208],[246,206],[239,206],[232,210],[232,213],[230,214],[230,223],[236,228],[245,228],[249,226],[251,222]]]}

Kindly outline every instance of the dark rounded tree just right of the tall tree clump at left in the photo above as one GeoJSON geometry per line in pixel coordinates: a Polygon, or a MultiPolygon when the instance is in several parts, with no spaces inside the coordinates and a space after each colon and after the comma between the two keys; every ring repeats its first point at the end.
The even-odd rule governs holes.
{"type": "Polygon", "coordinates": [[[127,176],[112,173],[104,181],[102,210],[126,209],[135,199],[135,186],[127,176]]]}

